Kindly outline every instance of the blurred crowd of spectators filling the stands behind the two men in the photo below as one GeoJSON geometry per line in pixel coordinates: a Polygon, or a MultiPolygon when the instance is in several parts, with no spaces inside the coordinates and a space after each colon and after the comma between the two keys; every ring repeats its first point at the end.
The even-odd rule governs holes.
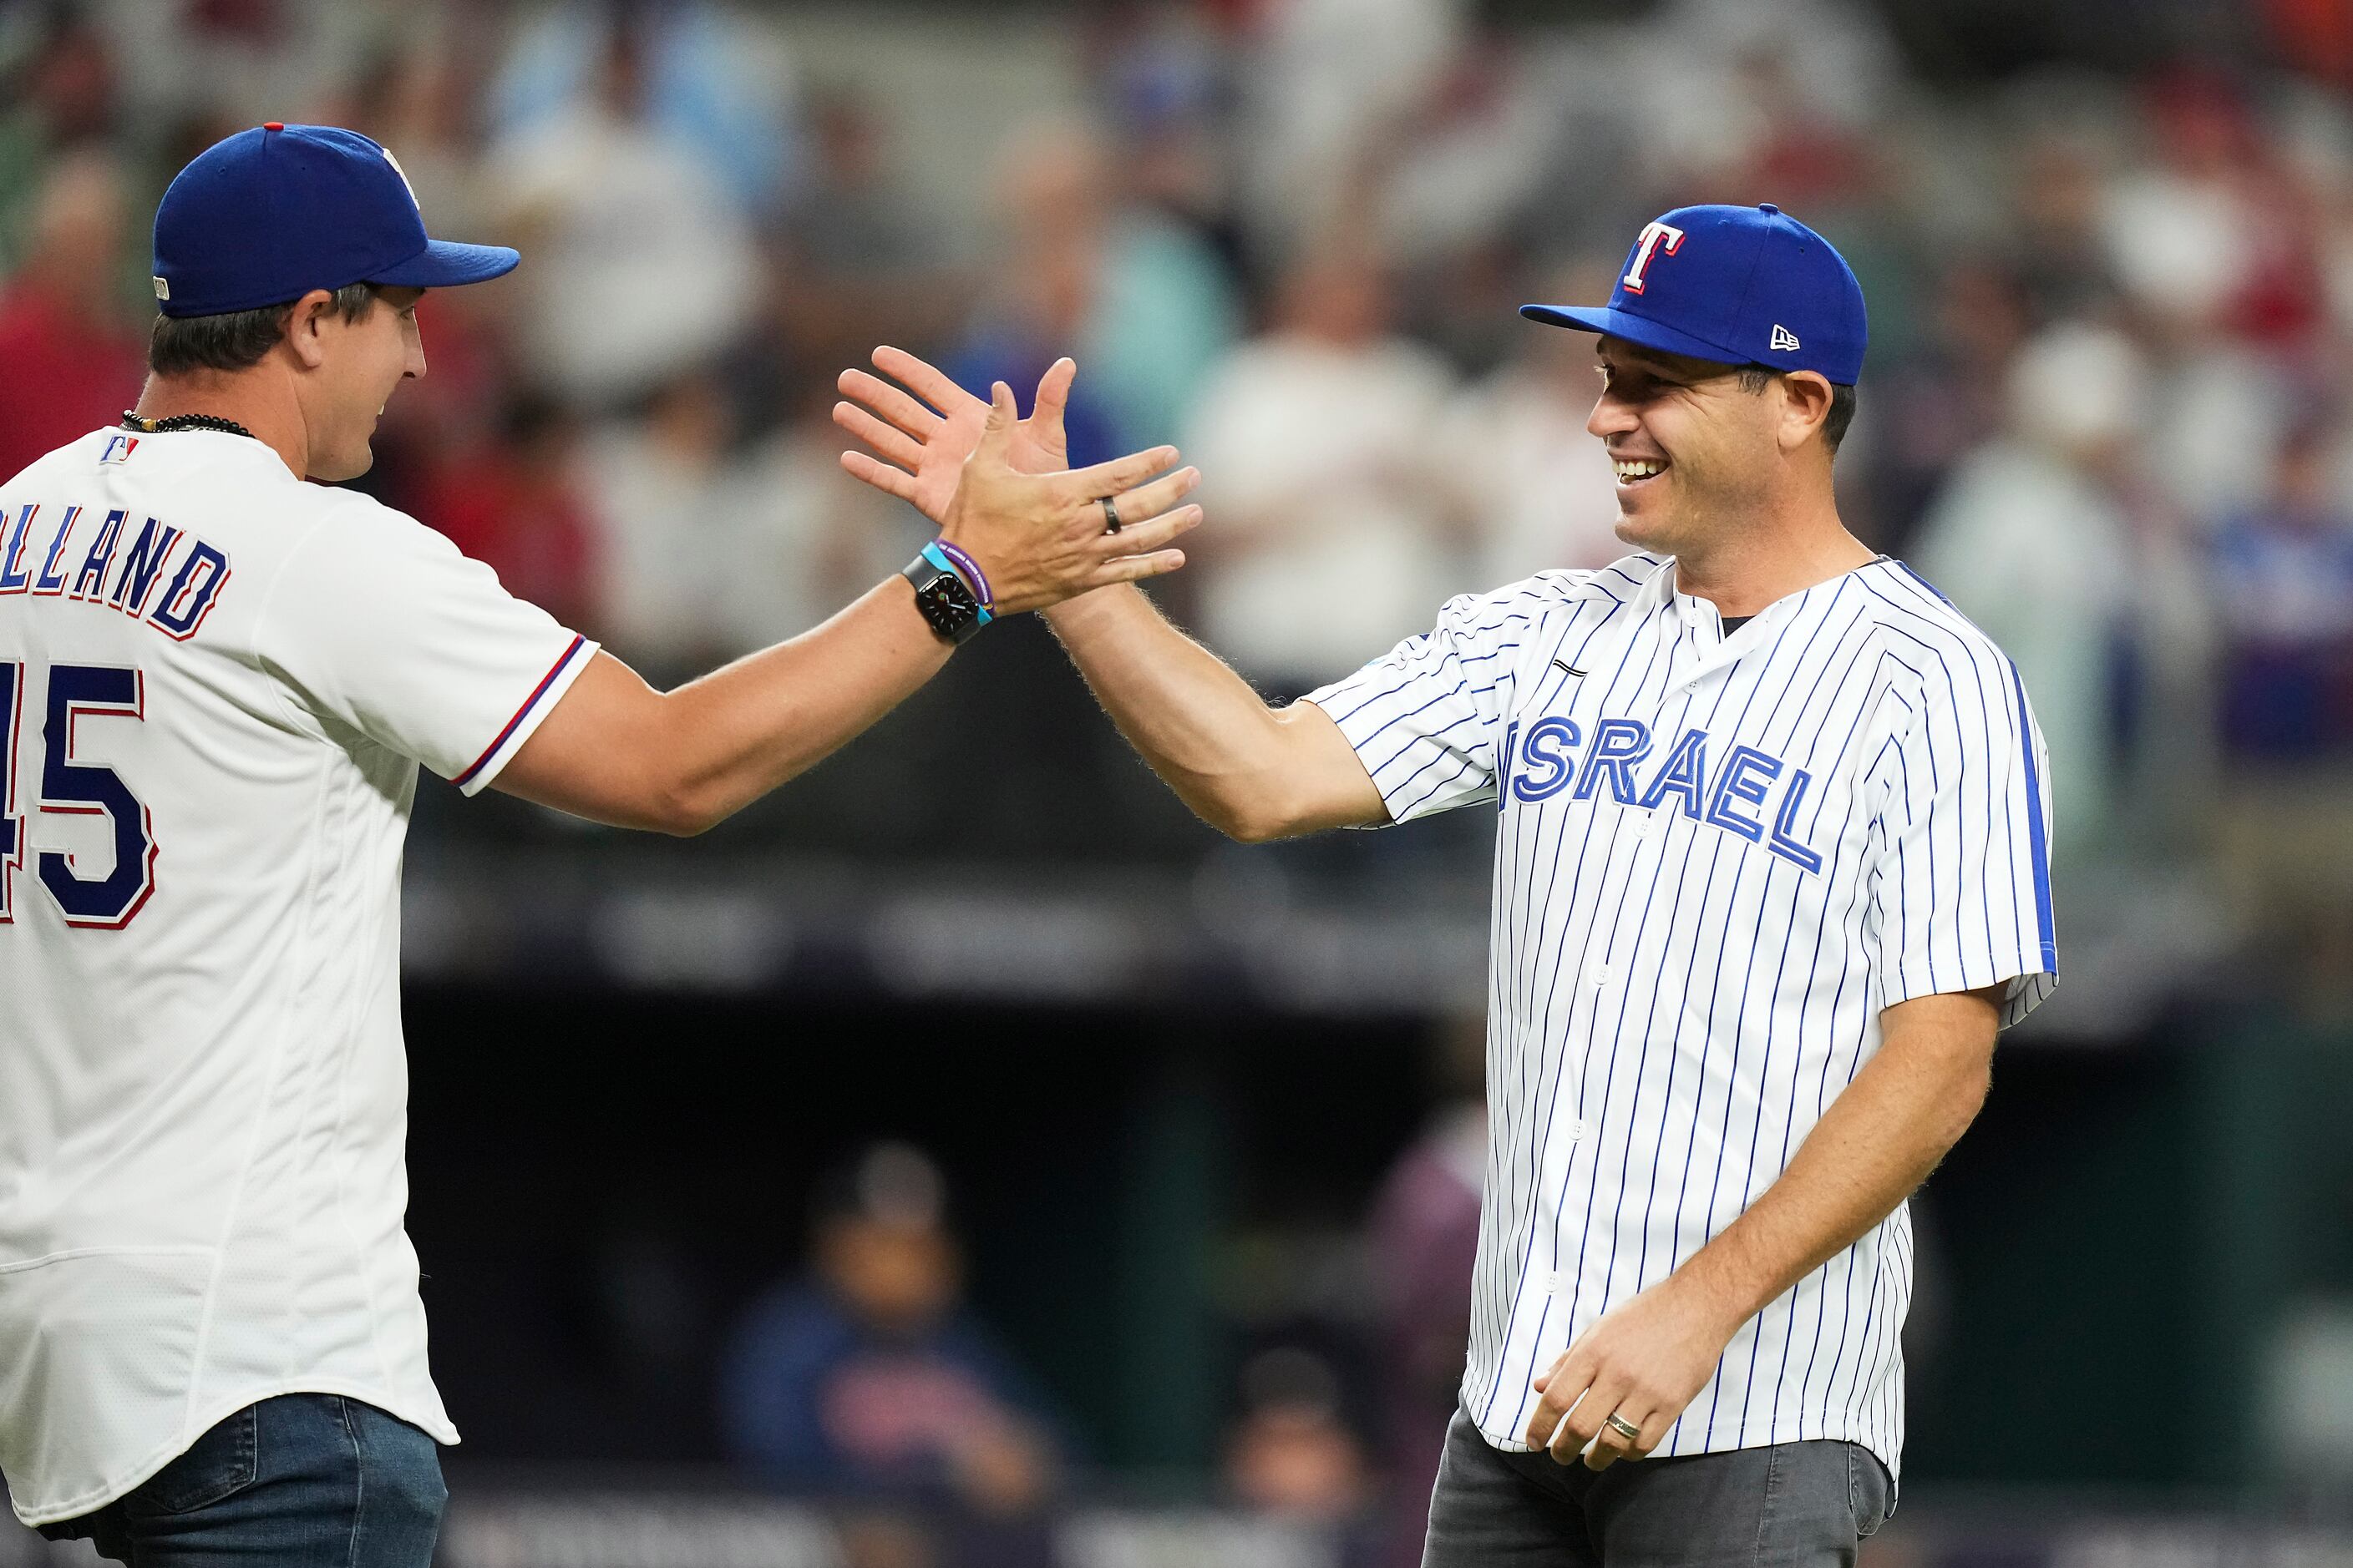
{"type": "Polygon", "coordinates": [[[1012,16],[1064,101],[904,146],[788,12],[28,0],[0,19],[0,470],[132,400],[169,172],[332,120],[438,233],[527,259],[426,301],[431,376],[362,484],[621,656],[689,672],[908,555],[828,423],[889,341],[974,388],[1075,355],[1075,461],[1179,442],[1212,527],[1169,599],[1301,691],[1452,592],[1619,552],[1591,339],[1513,308],[1600,299],[1671,205],[1772,200],[1871,301],[1845,515],[2019,661],[2059,863],[2209,863],[2346,973],[2339,12],[2266,7],[2261,66],[1929,89],[1847,0],[1132,0],[1012,16]]]}

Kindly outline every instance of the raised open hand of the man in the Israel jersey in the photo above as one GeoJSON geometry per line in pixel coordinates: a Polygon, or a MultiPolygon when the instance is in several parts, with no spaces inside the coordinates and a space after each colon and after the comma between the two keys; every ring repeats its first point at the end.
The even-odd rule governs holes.
{"type": "MultiPolygon", "coordinates": [[[[878,371],[901,386],[861,369],[845,369],[838,386],[847,402],[833,404],[833,423],[882,456],[845,451],[842,468],[913,503],[932,522],[944,522],[965,458],[981,444],[988,402],[904,348],[878,348],[873,360],[878,371]]],[[[1014,425],[1007,449],[1014,470],[1059,473],[1071,465],[1071,437],[1064,433],[1061,414],[1071,402],[1073,376],[1078,364],[1054,360],[1038,381],[1038,402],[1031,416],[1014,425]]]]}

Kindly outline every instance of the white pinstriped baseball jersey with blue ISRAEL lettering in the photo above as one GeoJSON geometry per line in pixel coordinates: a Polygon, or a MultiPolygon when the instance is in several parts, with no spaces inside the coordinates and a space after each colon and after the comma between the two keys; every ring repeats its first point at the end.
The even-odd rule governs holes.
{"type": "MultiPolygon", "coordinates": [[[[1878,559],[1729,637],[1631,555],[1445,607],[1308,701],[1395,820],[1499,811],[1489,1154],[1464,1408],[1722,1232],[1880,1044],[1880,1009],[2057,980],[2049,783],[2017,670],[1878,559]]],[[[1904,1443],[1911,1220],[1751,1319],[1661,1455],[1904,1443]]]]}

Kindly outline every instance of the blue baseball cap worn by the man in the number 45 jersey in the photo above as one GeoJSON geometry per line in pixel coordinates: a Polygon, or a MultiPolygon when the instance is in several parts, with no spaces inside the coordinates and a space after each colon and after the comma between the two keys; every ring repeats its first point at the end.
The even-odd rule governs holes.
{"type": "Polygon", "coordinates": [[[221,315],[311,289],[447,289],[511,273],[504,244],[426,235],[393,155],[334,125],[268,125],[216,141],[155,207],[155,308],[221,315]]]}

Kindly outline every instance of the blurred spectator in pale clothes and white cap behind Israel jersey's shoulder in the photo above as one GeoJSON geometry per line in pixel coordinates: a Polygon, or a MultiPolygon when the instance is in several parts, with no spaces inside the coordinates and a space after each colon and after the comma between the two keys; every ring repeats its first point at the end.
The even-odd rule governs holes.
{"type": "Polygon", "coordinates": [[[2057,856],[2097,844],[2115,799],[2113,679],[2134,576],[2118,470],[2146,395],[2127,339],[2047,331],[2009,376],[2007,433],[1960,463],[1920,529],[1920,571],[2026,682],[2049,745],[2057,856]]]}

